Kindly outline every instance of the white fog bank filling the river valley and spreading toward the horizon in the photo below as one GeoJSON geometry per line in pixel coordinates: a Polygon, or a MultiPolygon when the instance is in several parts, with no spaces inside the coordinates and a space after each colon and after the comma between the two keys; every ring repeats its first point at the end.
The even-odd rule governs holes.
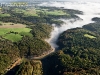
{"type": "Polygon", "coordinates": [[[56,45],[57,39],[61,33],[64,31],[76,28],[76,27],[82,27],[85,24],[92,23],[91,20],[94,17],[100,17],[100,4],[99,3],[92,3],[92,2],[51,2],[51,3],[43,3],[42,6],[51,6],[51,7],[64,7],[65,9],[75,9],[83,11],[83,15],[77,15],[83,20],[77,20],[75,22],[71,22],[74,19],[65,20],[62,19],[65,24],[62,24],[61,27],[57,27],[56,25],[52,25],[54,27],[54,30],[51,32],[51,36],[49,39],[46,39],[46,41],[54,48],[57,48],[56,45]]]}

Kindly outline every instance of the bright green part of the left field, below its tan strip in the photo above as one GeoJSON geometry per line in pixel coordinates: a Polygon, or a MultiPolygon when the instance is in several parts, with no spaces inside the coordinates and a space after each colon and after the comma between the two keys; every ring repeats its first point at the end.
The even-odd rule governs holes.
{"type": "Polygon", "coordinates": [[[17,42],[21,40],[24,35],[32,36],[32,34],[29,33],[30,30],[30,28],[0,28],[0,36],[12,42],[17,42]]]}

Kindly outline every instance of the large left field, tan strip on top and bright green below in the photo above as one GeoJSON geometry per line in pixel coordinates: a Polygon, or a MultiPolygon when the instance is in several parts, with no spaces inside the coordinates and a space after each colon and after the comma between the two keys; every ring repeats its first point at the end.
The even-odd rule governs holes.
{"type": "Polygon", "coordinates": [[[21,40],[25,35],[32,36],[32,34],[29,33],[30,31],[30,28],[26,28],[26,26],[22,24],[2,23],[0,26],[0,36],[12,42],[21,40]]]}

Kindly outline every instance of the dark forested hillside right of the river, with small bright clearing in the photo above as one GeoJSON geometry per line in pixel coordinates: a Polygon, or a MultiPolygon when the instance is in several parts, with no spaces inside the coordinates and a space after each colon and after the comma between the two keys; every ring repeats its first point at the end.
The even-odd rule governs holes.
{"type": "Polygon", "coordinates": [[[42,60],[44,75],[99,75],[99,26],[95,22],[63,32],[57,42],[60,51],[42,60]]]}

